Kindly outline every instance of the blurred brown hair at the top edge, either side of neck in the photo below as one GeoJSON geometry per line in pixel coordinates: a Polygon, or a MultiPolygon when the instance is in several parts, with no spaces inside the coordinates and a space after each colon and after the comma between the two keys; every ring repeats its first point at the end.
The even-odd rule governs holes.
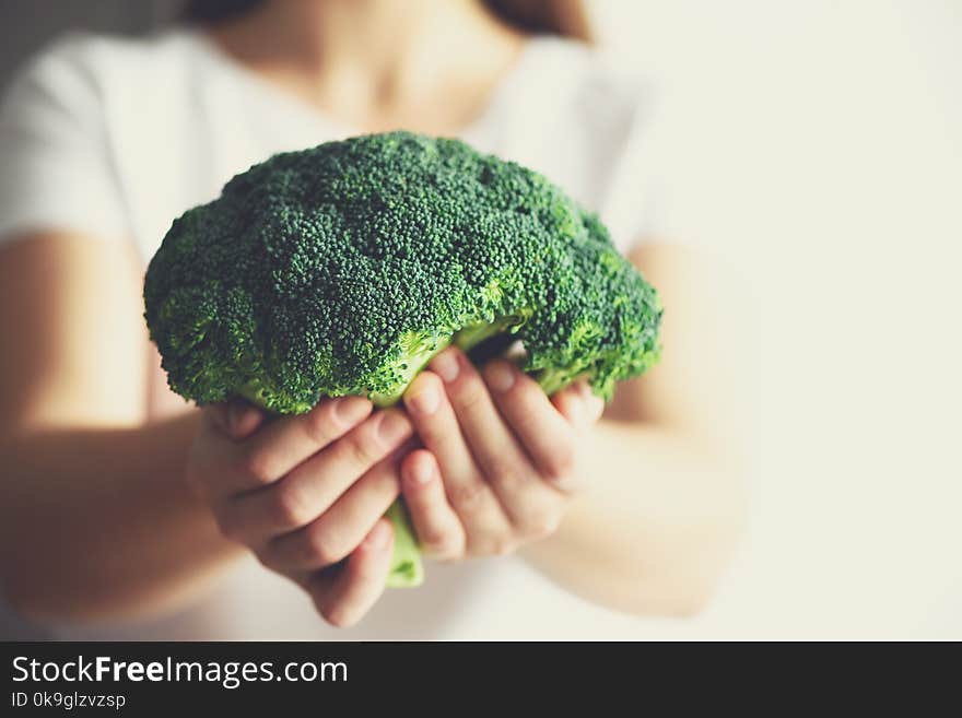
{"type": "MultiPolygon", "coordinates": [[[[181,19],[215,23],[237,17],[265,0],[187,0],[181,19]]],[[[582,0],[482,0],[495,15],[528,33],[560,35],[591,42],[591,28],[582,0]]]]}

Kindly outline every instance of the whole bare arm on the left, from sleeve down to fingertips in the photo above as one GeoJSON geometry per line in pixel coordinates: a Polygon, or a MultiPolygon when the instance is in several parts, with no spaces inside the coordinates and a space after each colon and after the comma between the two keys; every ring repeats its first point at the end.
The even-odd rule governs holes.
{"type": "Polygon", "coordinates": [[[349,397],[267,423],[236,405],[152,421],[137,259],[89,237],[28,239],[0,250],[0,334],[15,338],[0,348],[0,582],[13,607],[38,621],[154,614],[246,546],[330,623],[360,620],[390,565],[382,516],[403,415],[368,416],[349,397]]]}

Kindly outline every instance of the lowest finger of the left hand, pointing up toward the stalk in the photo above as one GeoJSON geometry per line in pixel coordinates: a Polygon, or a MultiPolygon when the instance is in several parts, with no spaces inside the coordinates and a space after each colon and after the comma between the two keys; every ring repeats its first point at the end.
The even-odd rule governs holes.
{"type": "Polygon", "coordinates": [[[384,592],[392,544],[394,529],[380,519],[342,566],[308,581],[307,590],[325,621],[343,628],[371,610],[384,592]]]}

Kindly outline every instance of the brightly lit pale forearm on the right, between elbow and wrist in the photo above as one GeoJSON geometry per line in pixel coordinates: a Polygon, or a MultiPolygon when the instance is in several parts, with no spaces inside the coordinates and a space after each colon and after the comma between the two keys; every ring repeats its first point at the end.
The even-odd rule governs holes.
{"type": "Polygon", "coordinates": [[[742,520],[735,457],[643,424],[600,422],[583,451],[585,490],[558,532],[525,556],[565,588],[640,614],[697,611],[742,520]]]}

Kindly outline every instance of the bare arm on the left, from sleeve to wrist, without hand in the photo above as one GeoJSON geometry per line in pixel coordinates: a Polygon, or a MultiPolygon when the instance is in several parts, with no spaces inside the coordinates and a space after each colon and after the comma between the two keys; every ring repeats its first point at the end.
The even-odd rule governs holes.
{"type": "Polygon", "coordinates": [[[186,601],[239,551],[181,480],[198,412],[146,424],[138,260],[90,237],[22,239],[0,251],[7,599],[36,620],[186,601]]]}

